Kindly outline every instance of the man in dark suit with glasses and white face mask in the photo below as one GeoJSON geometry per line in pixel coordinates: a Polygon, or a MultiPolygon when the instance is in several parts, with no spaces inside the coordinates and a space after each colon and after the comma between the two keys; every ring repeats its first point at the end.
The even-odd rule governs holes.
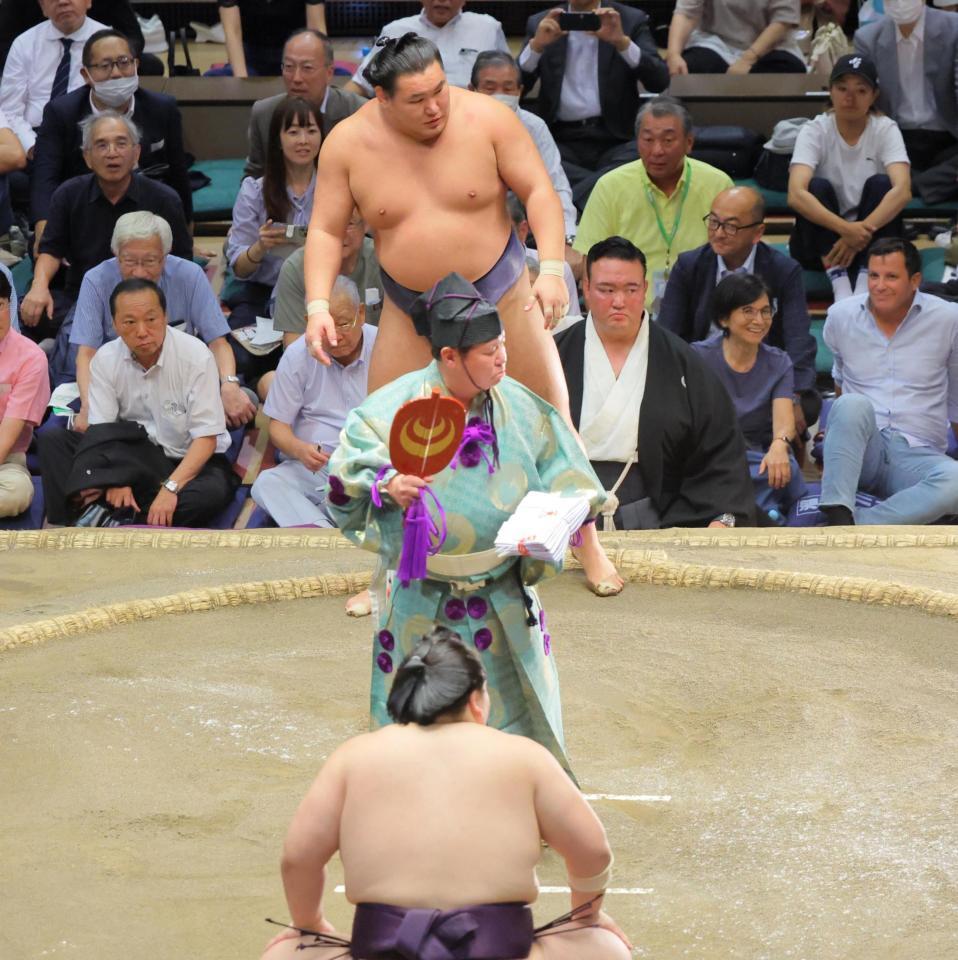
{"type": "Polygon", "coordinates": [[[172,187],[183,202],[187,223],[193,201],[183,150],[183,122],[173,97],[143,90],[130,42],[116,30],[98,30],[83,46],[81,76],[85,86],[51,100],[37,134],[30,186],[31,219],[37,245],[46,225],[54,190],[70,177],[87,172],[79,122],[90,114],[115,110],[140,130],[140,173],[172,187]]]}

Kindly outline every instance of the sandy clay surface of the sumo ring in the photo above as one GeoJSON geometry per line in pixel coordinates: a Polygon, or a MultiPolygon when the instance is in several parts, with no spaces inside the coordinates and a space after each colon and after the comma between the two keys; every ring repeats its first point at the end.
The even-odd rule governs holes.
{"type": "MultiPolygon", "coordinates": [[[[0,627],[96,595],[368,567],[333,553],[12,551],[0,627]],[[61,586],[45,593],[54,572],[61,586]]],[[[874,554],[839,554],[817,567],[878,572],[874,554]]],[[[896,555],[915,584],[941,589],[954,570],[953,548],[896,555]]],[[[785,563],[781,551],[695,558],[785,563]]],[[[814,565],[807,551],[795,560],[814,565]]],[[[578,573],[543,598],[577,773],[587,793],[618,798],[595,801],[625,891],[607,902],[639,956],[958,958],[954,619],[639,584],[598,600],[578,573]]],[[[263,918],[285,919],[293,809],[329,751],[365,728],[370,631],[334,597],[0,653],[0,956],[258,957],[263,918]]],[[[348,927],[341,879],[334,862],[326,909],[348,927]]],[[[540,882],[565,883],[549,851],[540,882]]],[[[536,914],[564,909],[546,893],[536,914]]]]}

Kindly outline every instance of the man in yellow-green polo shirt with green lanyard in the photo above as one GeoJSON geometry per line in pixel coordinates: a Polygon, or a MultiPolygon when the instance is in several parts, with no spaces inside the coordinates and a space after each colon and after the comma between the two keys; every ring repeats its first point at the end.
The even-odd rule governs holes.
{"type": "Polygon", "coordinates": [[[596,183],[576,233],[588,253],[608,237],[631,240],[648,261],[646,308],[655,315],[669,271],[686,250],[708,242],[704,218],[712,201],[732,186],[728,174],[692,160],[692,118],[672,97],[656,97],[635,121],[639,158],[596,183]]]}

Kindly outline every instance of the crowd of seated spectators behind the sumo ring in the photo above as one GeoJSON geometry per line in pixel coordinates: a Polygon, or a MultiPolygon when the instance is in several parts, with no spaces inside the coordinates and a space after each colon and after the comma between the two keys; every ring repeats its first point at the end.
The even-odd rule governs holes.
{"type": "MultiPolygon", "coordinates": [[[[807,495],[831,385],[816,379],[803,268],[824,270],[835,300],[822,522],[958,514],[958,304],[920,291],[903,220],[912,171],[958,182],[958,14],[884,0],[836,58],[830,105],[791,157],[789,255],[766,242],[761,192],[690,155],[693,117],[664,91],[686,73],[804,73],[800,0],[678,0],[661,51],[649,17],[615,0],[543,9],[515,47],[464,6],[423,0],[381,36],[433,41],[448,81],[515,111],[549,172],[571,303],[556,342],[616,494],[606,526],[784,522],[807,495]],[[859,490],[878,504],[857,507],[859,490]]],[[[279,525],[331,525],[325,465],[367,392],[386,294],[354,211],[330,304],[339,345],[318,364],[302,244],[323,140],[376,94],[375,48],[337,85],[326,5],[273,2],[265,20],[260,7],[219,0],[226,69],[279,75],[285,92],[250,113],[218,298],[194,261],[180,111],[139,85],[129,3],[0,2],[0,230],[23,224],[32,260],[19,300],[0,269],[0,516],[29,506],[36,451],[49,523],[207,524],[237,484],[229,431],[262,403],[279,462],[254,501],[279,525]],[[50,388],[70,383],[74,415],[48,417],[50,388]]]]}

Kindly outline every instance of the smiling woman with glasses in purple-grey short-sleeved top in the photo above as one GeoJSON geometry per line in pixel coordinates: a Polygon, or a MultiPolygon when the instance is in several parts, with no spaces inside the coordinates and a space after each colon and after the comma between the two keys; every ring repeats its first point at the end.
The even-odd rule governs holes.
{"type": "Polygon", "coordinates": [[[725,385],[745,444],[755,501],[783,516],[805,494],[792,450],[794,376],[788,354],[764,343],[774,308],[768,288],[752,273],[724,277],[712,294],[712,317],[722,332],[692,347],[725,385]]]}

